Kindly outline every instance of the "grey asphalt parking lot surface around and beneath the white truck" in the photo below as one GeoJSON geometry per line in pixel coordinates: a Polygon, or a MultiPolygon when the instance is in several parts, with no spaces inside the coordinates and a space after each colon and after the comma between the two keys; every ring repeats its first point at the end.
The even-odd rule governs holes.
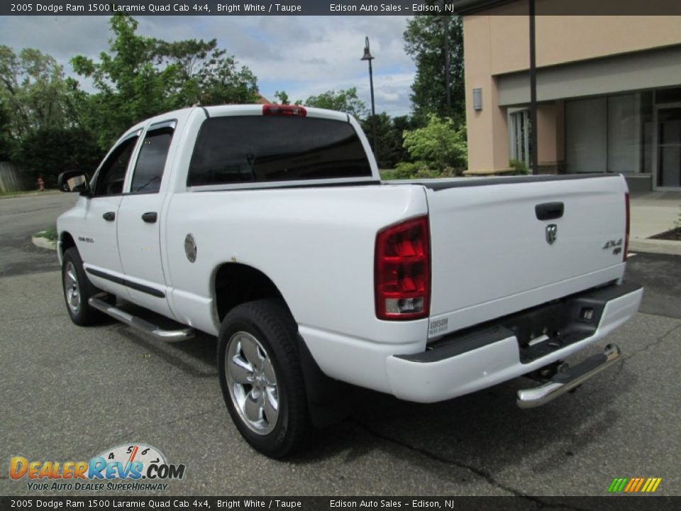
{"type": "Polygon", "coordinates": [[[29,238],[72,202],[0,200],[1,495],[35,495],[9,479],[11,456],[88,460],[135,441],[186,464],[172,495],[606,495],[615,477],[663,478],[658,494],[681,495],[677,256],[630,259],[646,297],[608,339],[624,360],[574,394],[519,410],[525,380],[436,405],[358,390],[348,419],[272,461],[228,417],[215,339],[160,344],[113,320],[70,322],[55,253],[29,238]]]}

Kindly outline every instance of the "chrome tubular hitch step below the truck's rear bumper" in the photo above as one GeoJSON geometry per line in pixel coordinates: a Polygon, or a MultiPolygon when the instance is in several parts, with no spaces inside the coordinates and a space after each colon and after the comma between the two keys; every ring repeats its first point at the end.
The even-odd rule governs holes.
{"type": "Polygon", "coordinates": [[[608,344],[603,353],[580,362],[577,366],[561,370],[547,383],[540,387],[518,391],[517,405],[521,408],[535,408],[546,405],[551,400],[559,397],[565,392],[577,388],[593,375],[619,360],[621,351],[614,344],[608,344]]]}

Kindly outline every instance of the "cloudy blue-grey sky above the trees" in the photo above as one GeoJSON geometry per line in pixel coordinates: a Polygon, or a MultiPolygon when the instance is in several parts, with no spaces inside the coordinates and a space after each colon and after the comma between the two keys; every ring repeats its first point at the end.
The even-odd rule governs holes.
{"type": "MultiPolygon", "coordinates": [[[[376,111],[409,113],[414,62],[404,53],[406,16],[138,16],[138,33],[164,40],[216,38],[219,48],[250,67],[270,100],[285,90],[292,100],[328,89],[357,87],[370,106],[367,63],[360,61],[369,36],[376,58],[376,111]]],[[[0,16],[0,44],[38,48],[64,65],[73,55],[97,57],[108,49],[106,16],[0,16]]]]}

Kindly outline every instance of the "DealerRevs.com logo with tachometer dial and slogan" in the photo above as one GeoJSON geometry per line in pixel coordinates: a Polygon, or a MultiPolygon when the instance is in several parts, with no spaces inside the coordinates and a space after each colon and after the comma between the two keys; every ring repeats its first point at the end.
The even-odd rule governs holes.
{"type": "Polygon", "coordinates": [[[168,463],[155,447],[123,444],[90,461],[29,461],[13,456],[9,477],[28,490],[167,490],[167,480],[184,478],[184,464],[168,463]]]}

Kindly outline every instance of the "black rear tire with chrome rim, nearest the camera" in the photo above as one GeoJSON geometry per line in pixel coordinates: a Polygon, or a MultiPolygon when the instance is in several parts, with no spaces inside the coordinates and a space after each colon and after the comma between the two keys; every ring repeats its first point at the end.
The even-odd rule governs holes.
{"type": "Polygon", "coordinates": [[[275,300],[229,312],[218,338],[218,371],[227,408],[240,434],[260,453],[294,453],[309,430],[297,326],[275,300]]]}

